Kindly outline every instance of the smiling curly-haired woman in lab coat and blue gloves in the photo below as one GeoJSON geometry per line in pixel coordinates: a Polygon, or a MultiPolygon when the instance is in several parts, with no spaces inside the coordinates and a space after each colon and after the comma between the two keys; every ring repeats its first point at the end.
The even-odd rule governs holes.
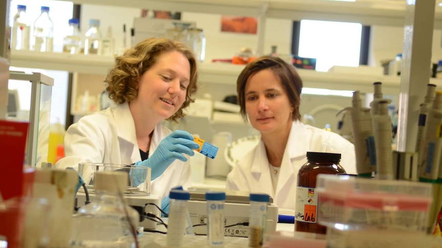
{"type": "MultiPolygon", "coordinates": [[[[196,59],[185,44],[151,38],[115,59],[105,79],[116,104],[81,118],[65,135],[66,157],[58,168],[78,163],[135,164],[152,169],[151,193],[166,199],[170,189],[190,186],[190,165],[185,154],[199,148],[190,133],[171,132],[160,124],[184,117],[197,85],[196,59]]],[[[142,184],[146,175],[136,173],[142,184]]],[[[144,170],[139,170],[144,171],[144,170]]]]}

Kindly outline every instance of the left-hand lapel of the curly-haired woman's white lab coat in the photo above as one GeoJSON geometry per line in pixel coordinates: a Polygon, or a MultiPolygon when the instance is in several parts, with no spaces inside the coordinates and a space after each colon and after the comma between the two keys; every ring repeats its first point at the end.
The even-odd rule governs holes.
{"type": "Polygon", "coordinates": [[[136,141],[135,123],[129,109],[129,103],[119,104],[114,109],[114,118],[117,127],[120,149],[126,148],[130,159],[134,163],[141,160],[138,143],[136,141]],[[124,140],[124,141],[122,141],[124,140]],[[124,142],[124,146],[121,144],[124,142]]]}

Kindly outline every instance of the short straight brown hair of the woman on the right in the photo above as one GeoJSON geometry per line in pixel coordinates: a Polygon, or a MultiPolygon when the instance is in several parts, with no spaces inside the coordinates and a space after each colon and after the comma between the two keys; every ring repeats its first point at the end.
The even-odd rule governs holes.
{"type": "Polygon", "coordinates": [[[293,106],[293,120],[300,120],[299,103],[303,88],[303,80],[299,77],[295,67],[278,57],[262,56],[248,64],[239,74],[236,81],[236,92],[238,94],[238,104],[241,107],[240,113],[247,121],[246,112],[246,84],[249,78],[257,72],[270,69],[279,78],[286,90],[289,101],[293,106]]]}

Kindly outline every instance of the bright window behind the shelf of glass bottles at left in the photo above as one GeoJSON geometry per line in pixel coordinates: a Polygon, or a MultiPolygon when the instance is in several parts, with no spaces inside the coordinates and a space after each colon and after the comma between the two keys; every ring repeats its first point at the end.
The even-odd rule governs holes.
{"type": "MultiPolygon", "coordinates": [[[[50,8],[49,16],[54,24],[54,52],[62,52],[63,37],[68,26],[68,20],[72,18],[73,4],[64,1],[52,0],[11,0],[9,12],[9,25],[12,27],[14,15],[17,13],[17,5],[26,5],[26,14],[29,24],[32,26],[34,20],[40,15],[42,6],[50,8]]],[[[12,51],[12,56],[13,56],[12,51]]],[[[26,69],[26,68],[10,68],[11,71],[24,71],[26,73],[39,72],[54,79],[54,86],[52,87],[52,101],[51,101],[51,123],[66,122],[66,108],[67,108],[67,93],[68,93],[68,72],[50,71],[41,69],[26,69]]],[[[23,83],[23,81],[13,80],[9,81],[8,88],[16,89],[21,110],[29,110],[30,107],[30,83],[23,83]]]]}

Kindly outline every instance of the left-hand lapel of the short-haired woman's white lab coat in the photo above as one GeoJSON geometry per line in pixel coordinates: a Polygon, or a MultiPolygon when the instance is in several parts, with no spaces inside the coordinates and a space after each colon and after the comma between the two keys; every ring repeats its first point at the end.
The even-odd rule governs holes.
{"type": "Polygon", "coordinates": [[[250,189],[251,192],[266,193],[272,197],[272,177],[270,175],[269,160],[267,159],[266,147],[263,140],[259,141],[258,147],[252,159],[250,168],[253,178],[257,182],[256,189],[250,189]]]}

